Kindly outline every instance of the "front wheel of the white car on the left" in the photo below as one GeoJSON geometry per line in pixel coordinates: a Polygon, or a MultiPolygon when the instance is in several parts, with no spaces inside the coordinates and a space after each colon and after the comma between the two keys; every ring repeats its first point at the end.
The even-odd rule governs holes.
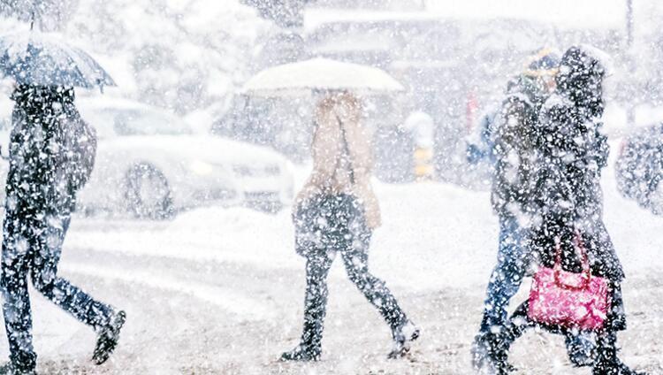
{"type": "Polygon", "coordinates": [[[133,165],[126,172],[126,202],[136,218],[172,218],[171,188],[164,173],[149,164],[133,165]]]}

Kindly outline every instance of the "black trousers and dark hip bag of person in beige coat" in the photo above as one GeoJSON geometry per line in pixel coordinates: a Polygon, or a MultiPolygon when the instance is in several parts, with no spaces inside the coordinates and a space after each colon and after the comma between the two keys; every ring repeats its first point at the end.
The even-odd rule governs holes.
{"type": "Polygon", "coordinates": [[[314,350],[321,347],[329,295],[327,275],[337,255],[343,260],[348,278],[385,318],[392,332],[397,331],[405,325],[407,317],[385,282],[369,271],[371,231],[362,210],[357,208],[354,198],[347,195],[323,201],[317,202],[320,206],[309,207],[308,212],[300,216],[302,221],[296,223],[298,247],[305,248],[298,252],[307,259],[301,345],[314,350]]]}

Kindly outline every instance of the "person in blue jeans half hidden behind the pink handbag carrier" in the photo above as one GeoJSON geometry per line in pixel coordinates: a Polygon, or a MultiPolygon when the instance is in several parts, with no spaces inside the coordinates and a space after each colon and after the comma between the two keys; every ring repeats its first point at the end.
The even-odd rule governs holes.
{"type": "MultiPolygon", "coordinates": [[[[531,256],[525,238],[534,212],[530,204],[530,188],[534,139],[539,113],[552,95],[559,55],[551,49],[538,50],[528,59],[524,72],[510,80],[506,98],[499,111],[486,123],[490,140],[492,174],[492,207],[499,217],[499,248],[497,264],[492,271],[484,300],[484,315],[471,348],[476,370],[491,367],[490,352],[499,346],[499,332],[508,321],[507,308],[518,292],[527,272],[531,256]]],[[[583,347],[567,338],[569,358],[579,364],[583,347]]]]}

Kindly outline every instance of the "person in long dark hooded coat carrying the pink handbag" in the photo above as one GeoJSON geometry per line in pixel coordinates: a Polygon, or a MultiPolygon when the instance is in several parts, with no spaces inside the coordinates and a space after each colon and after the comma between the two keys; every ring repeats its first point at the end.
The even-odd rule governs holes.
{"type": "MultiPolygon", "coordinates": [[[[575,253],[575,233],[590,259],[591,274],[609,280],[611,306],[602,329],[593,332],[594,375],[635,374],[617,357],[617,332],[626,329],[621,298],[624,272],[613,242],[603,222],[601,169],[607,164],[608,144],[600,133],[604,111],[603,80],[606,76],[602,52],[591,47],[572,47],[564,54],[557,76],[556,93],[544,104],[537,122],[537,161],[532,204],[539,217],[528,244],[540,263],[552,267],[556,241],[560,241],[562,268],[581,272],[581,259],[575,253]]],[[[528,302],[518,308],[502,333],[502,351],[495,355],[498,373],[507,373],[507,353],[511,343],[535,325],[527,318],[528,302]],[[525,322],[525,323],[522,323],[525,322]]],[[[565,327],[545,327],[568,334],[565,327]]]]}

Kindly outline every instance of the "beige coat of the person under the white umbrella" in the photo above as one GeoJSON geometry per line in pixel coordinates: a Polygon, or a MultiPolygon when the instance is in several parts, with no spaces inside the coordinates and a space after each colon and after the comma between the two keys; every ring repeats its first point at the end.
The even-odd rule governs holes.
{"type": "Polygon", "coordinates": [[[370,172],[373,168],[370,134],[361,126],[360,115],[361,105],[353,96],[347,94],[324,99],[318,105],[317,127],[311,147],[313,171],[297,195],[295,203],[305,203],[311,197],[327,192],[354,195],[362,203],[367,225],[377,228],[381,220],[377,197],[370,185],[370,172]],[[349,166],[342,161],[344,146],[339,120],[345,129],[354,184],[350,180],[349,166]]]}

